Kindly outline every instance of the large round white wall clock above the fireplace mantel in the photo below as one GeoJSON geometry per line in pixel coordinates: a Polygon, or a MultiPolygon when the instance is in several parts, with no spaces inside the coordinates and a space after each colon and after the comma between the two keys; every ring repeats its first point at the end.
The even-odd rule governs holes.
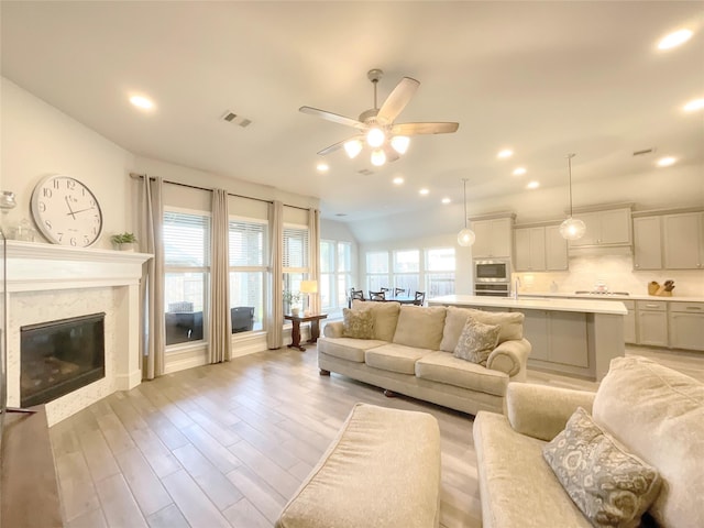
{"type": "Polygon", "coordinates": [[[42,178],[30,204],[36,227],[50,242],[75,248],[92,245],[102,232],[102,211],[96,195],[76,178],[42,178]]]}

